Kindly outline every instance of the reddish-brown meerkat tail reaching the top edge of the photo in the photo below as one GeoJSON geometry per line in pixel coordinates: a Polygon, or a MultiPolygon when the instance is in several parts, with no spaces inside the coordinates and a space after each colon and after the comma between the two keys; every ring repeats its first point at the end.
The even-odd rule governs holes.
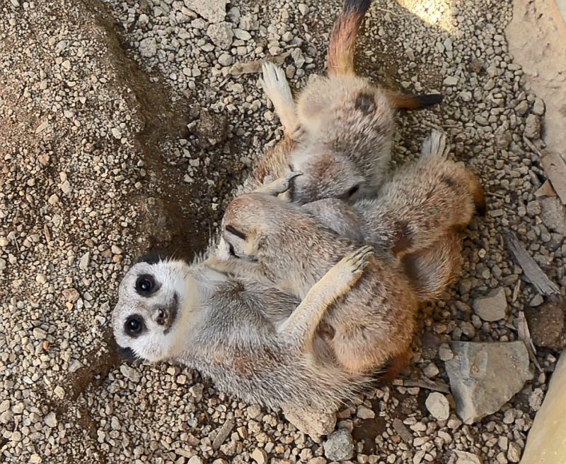
{"type": "Polygon", "coordinates": [[[328,45],[328,74],[354,74],[354,45],[371,0],[344,0],[328,45]]]}

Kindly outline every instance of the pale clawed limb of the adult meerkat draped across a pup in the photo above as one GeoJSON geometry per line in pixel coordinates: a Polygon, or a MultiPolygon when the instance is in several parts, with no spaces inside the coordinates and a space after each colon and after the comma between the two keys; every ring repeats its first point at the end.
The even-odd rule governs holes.
{"type": "Polygon", "coordinates": [[[328,306],[354,287],[373,255],[372,246],[362,246],[330,268],[311,290],[308,290],[293,314],[279,326],[279,334],[290,338],[298,346],[309,343],[328,306]]]}

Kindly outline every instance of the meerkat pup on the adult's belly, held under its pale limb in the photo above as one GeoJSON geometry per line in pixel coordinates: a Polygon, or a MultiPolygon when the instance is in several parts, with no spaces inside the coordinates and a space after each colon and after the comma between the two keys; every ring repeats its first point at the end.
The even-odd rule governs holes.
{"type": "MultiPolygon", "coordinates": [[[[295,175],[229,204],[223,237],[232,258],[209,258],[209,266],[304,298],[340,256],[358,248],[299,204],[276,198],[295,175]]],[[[320,333],[340,367],[368,373],[408,352],[417,307],[417,295],[400,263],[380,252],[369,260],[357,285],[325,312],[320,333]]]]}

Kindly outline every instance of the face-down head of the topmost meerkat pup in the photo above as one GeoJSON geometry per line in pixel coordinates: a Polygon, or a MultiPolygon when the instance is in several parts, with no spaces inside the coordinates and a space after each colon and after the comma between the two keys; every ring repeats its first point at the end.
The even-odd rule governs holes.
{"type": "Polygon", "coordinates": [[[362,172],[347,157],[337,153],[298,153],[291,158],[291,170],[303,172],[294,179],[291,191],[296,203],[323,198],[352,201],[365,189],[362,172]]]}

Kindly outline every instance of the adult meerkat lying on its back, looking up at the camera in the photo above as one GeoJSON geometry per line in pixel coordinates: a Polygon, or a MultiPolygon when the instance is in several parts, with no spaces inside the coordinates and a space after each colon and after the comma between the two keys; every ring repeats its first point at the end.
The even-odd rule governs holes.
{"type": "Polygon", "coordinates": [[[206,262],[142,260],[120,283],[115,340],[122,353],[198,369],[249,403],[334,412],[369,379],[325,359],[316,331],[328,307],[363,278],[372,254],[369,246],[352,249],[302,301],[206,262]]]}

